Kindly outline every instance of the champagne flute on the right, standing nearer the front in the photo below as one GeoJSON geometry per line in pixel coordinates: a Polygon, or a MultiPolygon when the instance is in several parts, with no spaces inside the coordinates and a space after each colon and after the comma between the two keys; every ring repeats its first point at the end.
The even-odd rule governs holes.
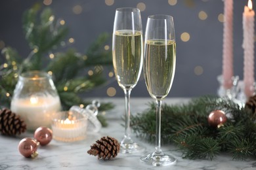
{"type": "Polygon", "coordinates": [[[176,159],[161,150],[161,101],[173,84],[176,44],[173,17],[148,16],[144,46],[144,78],[150,96],[156,100],[156,150],[140,161],[154,166],[173,165],[176,159]]]}

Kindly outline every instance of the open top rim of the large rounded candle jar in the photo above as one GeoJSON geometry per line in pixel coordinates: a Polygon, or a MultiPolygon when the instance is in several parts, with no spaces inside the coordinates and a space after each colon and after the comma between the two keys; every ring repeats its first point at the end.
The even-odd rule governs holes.
{"type": "Polygon", "coordinates": [[[19,78],[28,80],[43,80],[45,78],[51,78],[51,75],[45,71],[26,71],[19,75],[19,78]]]}

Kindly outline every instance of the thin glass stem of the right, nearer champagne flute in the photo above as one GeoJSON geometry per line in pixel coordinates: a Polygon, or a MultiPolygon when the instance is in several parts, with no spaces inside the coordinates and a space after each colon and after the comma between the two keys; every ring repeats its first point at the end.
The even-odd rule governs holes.
{"type": "Polygon", "coordinates": [[[161,152],[161,100],[156,101],[156,152],[161,152]]]}

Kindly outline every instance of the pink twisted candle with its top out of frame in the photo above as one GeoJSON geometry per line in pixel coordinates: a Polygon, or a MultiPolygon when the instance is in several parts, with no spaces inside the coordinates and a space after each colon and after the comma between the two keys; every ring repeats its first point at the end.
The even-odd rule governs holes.
{"type": "Polygon", "coordinates": [[[233,0],[224,0],[223,24],[223,86],[233,86],[233,0]]]}

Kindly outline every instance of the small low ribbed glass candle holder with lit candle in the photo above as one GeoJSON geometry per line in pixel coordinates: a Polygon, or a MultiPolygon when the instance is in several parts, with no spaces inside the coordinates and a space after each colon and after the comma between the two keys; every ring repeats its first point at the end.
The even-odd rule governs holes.
{"type": "Polygon", "coordinates": [[[79,112],[56,112],[52,122],[53,139],[63,142],[81,141],[86,137],[87,118],[79,112]]]}

